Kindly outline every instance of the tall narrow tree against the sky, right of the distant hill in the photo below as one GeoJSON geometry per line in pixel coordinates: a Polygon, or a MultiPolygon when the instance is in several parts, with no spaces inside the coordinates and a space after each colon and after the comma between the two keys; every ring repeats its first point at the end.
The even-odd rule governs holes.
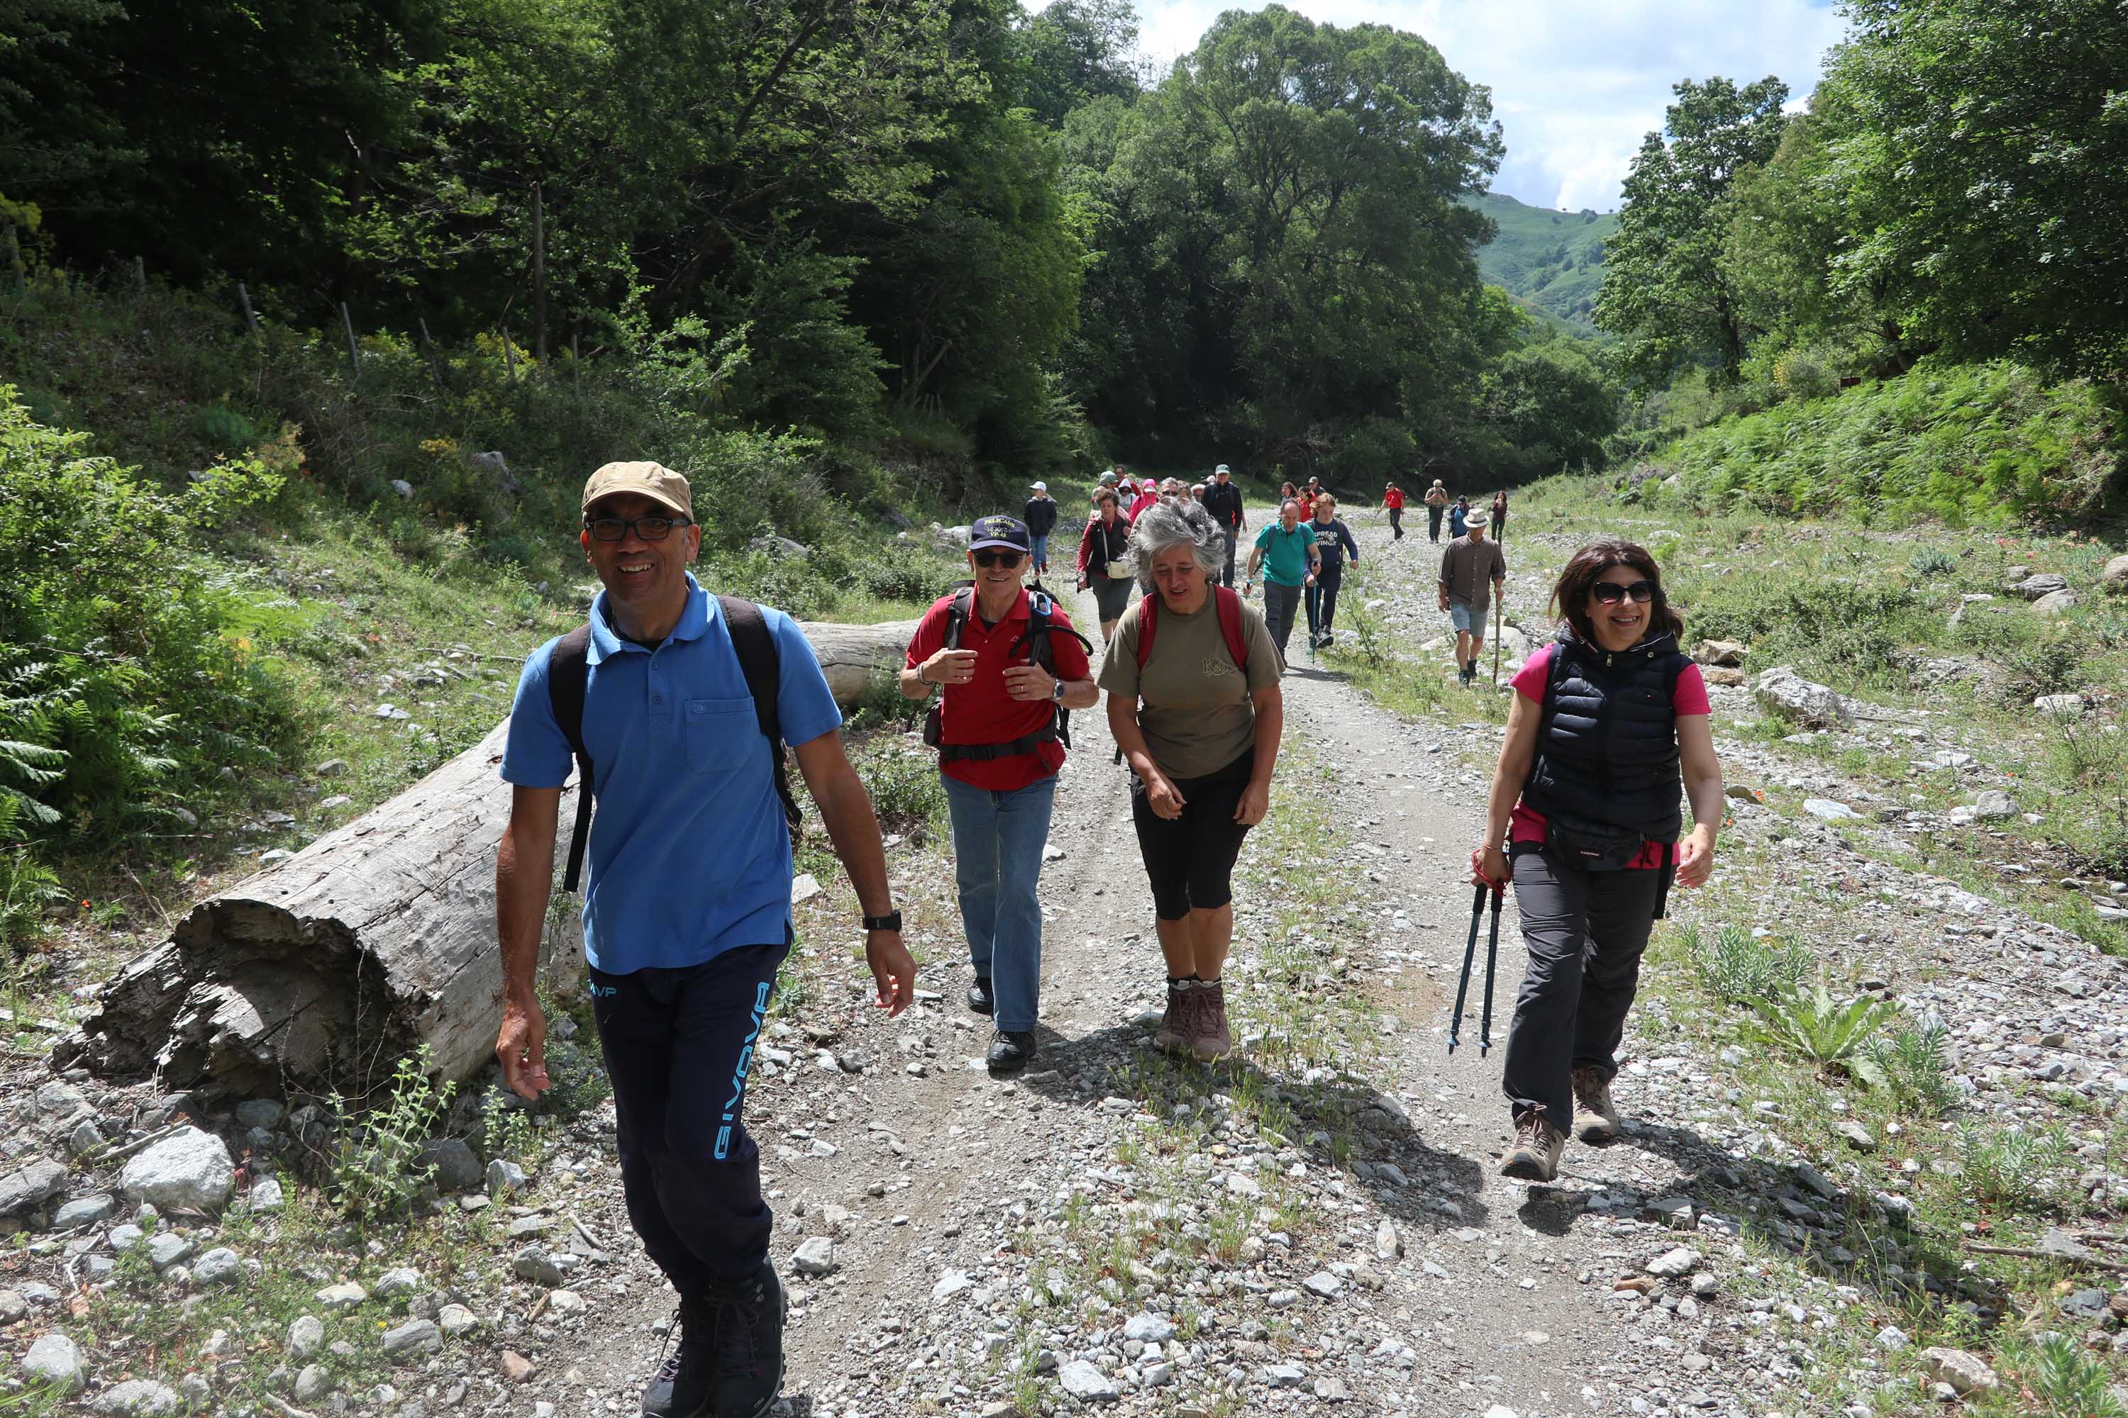
{"type": "Polygon", "coordinates": [[[1788,85],[1683,81],[1626,176],[1619,230],[1605,244],[1596,325],[1624,336],[1624,368],[1660,387],[1692,364],[1734,383],[1756,330],[1724,268],[1732,185],[1781,142],[1788,85]]]}

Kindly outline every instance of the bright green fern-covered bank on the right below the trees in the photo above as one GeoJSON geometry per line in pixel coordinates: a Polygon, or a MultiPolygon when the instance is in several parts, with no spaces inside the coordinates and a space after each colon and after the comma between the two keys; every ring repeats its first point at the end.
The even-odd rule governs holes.
{"type": "Polygon", "coordinates": [[[2068,519],[2117,485],[2115,425],[2088,381],[1922,361],[1902,378],[1702,427],[1662,455],[1662,472],[1679,474],[1685,500],[1779,514],[2068,519]]]}

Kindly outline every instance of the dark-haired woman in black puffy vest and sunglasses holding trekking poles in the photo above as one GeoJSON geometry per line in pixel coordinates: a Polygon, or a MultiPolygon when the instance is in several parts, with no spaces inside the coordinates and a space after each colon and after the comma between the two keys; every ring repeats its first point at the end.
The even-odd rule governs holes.
{"type": "Polygon", "coordinates": [[[1560,634],[1515,674],[1485,842],[1470,853],[1473,880],[1513,878],[1530,952],[1507,1033],[1515,1146],[1500,1171],[1532,1182],[1558,1176],[1568,1118],[1583,1142],[1617,1137],[1611,1078],[1641,950],[1670,882],[1713,872],[1722,825],[1707,685],[1677,648],[1683,621],[1656,559],[1590,542],[1551,606],[1560,634]]]}

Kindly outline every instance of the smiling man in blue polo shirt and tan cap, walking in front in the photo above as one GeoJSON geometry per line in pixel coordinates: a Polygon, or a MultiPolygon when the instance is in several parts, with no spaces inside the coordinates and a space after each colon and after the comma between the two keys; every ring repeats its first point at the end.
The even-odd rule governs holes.
{"type": "Polygon", "coordinates": [[[658,1418],[760,1418],[783,1384],[787,1299],[768,1261],[772,1214],[747,1135],[747,1063],[792,946],[798,759],[855,889],[879,1008],[915,999],[915,963],[843,723],[798,623],[709,595],[687,480],[606,463],[583,487],[581,544],[604,587],[589,621],[526,659],[496,855],[502,1082],[549,1086],[538,946],[555,825],[579,772],[566,889],[583,878],[592,1014],[613,1086],[628,1218],[679,1293],[679,1344],[643,1392],[658,1418]],[[589,816],[596,797],[598,814],[589,816]],[[585,833],[589,827],[589,833],[585,833]]]}

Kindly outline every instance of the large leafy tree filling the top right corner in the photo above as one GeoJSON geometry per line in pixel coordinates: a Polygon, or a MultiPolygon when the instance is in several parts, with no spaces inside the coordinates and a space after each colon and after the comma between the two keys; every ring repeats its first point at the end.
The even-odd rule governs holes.
{"type": "Polygon", "coordinates": [[[1856,0],[1830,153],[1845,285],[1960,355],[2128,374],[2128,19],[2117,0],[1856,0]]]}

